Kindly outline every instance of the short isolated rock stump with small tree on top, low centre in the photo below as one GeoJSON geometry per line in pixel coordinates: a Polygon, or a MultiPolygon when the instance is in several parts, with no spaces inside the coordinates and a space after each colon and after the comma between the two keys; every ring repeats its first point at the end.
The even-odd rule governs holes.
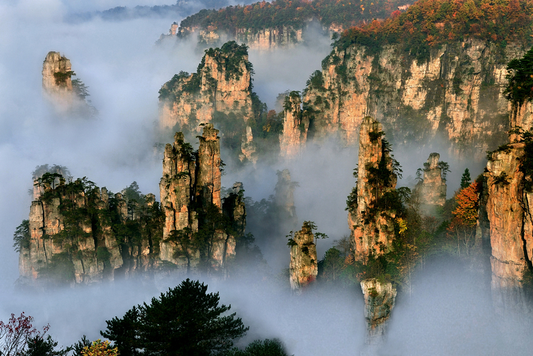
{"type": "Polygon", "coordinates": [[[289,239],[291,246],[291,264],[289,266],[289,281],[295,293],[301,293],[303,288],[316,280],[318,274],[318,260],[316,258],[315,236],[308,222],[303,222],[300,231],[289,239]]]}

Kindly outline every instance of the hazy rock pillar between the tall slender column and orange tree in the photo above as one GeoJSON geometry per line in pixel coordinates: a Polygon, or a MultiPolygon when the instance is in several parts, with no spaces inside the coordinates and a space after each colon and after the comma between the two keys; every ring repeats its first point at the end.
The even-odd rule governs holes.
{"type": "Polygon", "coordinates": [[[421,205],[443,206],[446,203],[446,179],[443,178],[443,171],[439,166],[440,158],[440,154],[431,153],[428,161],[424,163],[424,176],[415,186],[421,205]]]}

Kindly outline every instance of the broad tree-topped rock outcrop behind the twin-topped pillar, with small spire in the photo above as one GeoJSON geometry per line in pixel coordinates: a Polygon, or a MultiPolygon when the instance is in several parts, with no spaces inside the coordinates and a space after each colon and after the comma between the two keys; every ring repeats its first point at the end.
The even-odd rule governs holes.
{"type": "Polygon", "coordinates": [[[253,117],[252,64],[246,45],[228,42],[205,52],[192,75],[180,72],[159,90],[159,124],[186,134],[215,122],[226,141],[242,144],[242,159],[257,160],[248,120],[253,117]]]}

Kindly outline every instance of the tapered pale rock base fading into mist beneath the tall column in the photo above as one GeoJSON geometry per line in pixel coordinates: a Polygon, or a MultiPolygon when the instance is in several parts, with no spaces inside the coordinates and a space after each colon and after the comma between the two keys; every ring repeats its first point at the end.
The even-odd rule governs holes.
{"type": "Polygon", "coordinates": [[[397,291],[390,283],[377,279],[365,279],[361,282],[365,296],[365,320],[367,322],[367,345],[377,345],[384,341],[385,329],[394,308],[397,291]]]}

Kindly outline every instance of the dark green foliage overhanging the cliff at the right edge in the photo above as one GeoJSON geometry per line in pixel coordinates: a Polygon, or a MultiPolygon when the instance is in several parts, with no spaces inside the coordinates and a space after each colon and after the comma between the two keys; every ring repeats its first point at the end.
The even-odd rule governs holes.
{"type": "Polygon", "coordinates": [[[513,104],[522,104],[533,97],[533,48],[522,58],[515,58],[507,65],[508,80],[503,94],[513,104]]]}

